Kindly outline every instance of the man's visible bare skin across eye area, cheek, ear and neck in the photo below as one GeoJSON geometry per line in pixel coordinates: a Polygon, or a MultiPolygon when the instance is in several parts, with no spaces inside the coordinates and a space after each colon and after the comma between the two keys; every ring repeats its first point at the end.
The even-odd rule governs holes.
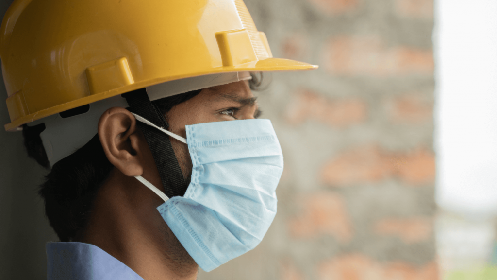
{"type": "MultiPolygon", "coordinates": [[[[165,117],[169,130],[186,138],[187,125],[254,119],[259,115],[248,82],[240,81],[203,89],[195,97],[172,107],[165,117]]],[[[78,240],[120,256],[124,263],[128,262],[137,269],[141,267],[137,262],[146,263],[145,268],[150,267],[150,262],[156,262],[153,252],[157,252],[164,257],[160,262],[178,277],[196,275],[198,266],[157,211],[164,201],[132,178],[140,175],[164,192],[154,157],[137,122],[128,110],[121,107],[110,108],[100,117],[100,143],[116,168],[111,171],[95,199],[92,213],[98,215],[90,218],[88,228],[78,240]],[[114,243],[109,242],[107,236],[108,232],[115,234],[116,222],[109,223],[109,220],[120,221],[116,234],[120,238],[114,243]],[[133,248],[142,244],[138,246],[141,250],[133,251],[133,256],[140,257],[129,259],[130,255],[123,254],[126,251],[119,242],[132,244],[133,248]]],[[[170,140],[183,176],[189,183],[192,163],[188,146],[173,138],[170,140]]],[[[149,269],[141,271],[144,275],[149,272],[149,269]]]]}

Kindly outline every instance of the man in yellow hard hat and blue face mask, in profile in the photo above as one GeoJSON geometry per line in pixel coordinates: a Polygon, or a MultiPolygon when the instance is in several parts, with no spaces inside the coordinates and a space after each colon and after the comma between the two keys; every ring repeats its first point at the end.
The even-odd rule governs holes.
{"type": "Polygon", "coordinates": [[[5,129],[51,168],[48,279],[195,279],[260,242],[283,162],[249,72],[317,66],[242,0],[17,0],[1,34],[5,129]]]}

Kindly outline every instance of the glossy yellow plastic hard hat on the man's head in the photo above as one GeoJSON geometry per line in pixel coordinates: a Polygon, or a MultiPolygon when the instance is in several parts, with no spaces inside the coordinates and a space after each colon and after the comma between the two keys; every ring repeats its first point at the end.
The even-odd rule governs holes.
{"type": "Polygon", "coordinates": [[[273,58],[242,0],[15,0],[0,32],[7,131],[167,81],[317,68],[273,58]]]}

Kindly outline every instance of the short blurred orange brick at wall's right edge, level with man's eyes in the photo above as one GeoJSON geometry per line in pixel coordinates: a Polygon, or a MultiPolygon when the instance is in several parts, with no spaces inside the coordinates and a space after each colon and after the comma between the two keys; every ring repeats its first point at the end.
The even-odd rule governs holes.
{"type": "Polygon", "coordinates": [[[419,94],[406,94],[389,100],[387,110],[395,123],[420,124],[433,120],[433,104],[419,94]]]}

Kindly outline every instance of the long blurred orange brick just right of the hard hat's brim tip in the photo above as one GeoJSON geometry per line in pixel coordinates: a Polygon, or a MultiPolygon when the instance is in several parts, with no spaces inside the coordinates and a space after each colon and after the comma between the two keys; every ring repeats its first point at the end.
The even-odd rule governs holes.
{"type": "Polygon", "coordinates": [[[323,66],[331,74],[375,77],[432,75],[431,49],[387,47],[378,36],[332,38],[324,48],[323,66]]]}

